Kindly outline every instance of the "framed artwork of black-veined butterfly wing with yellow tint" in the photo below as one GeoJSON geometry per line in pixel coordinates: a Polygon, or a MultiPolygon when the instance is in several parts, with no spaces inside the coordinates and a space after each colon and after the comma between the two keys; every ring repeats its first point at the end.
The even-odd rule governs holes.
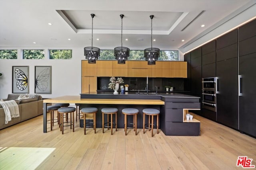
{"type": "Polygon", "coordinates": [[[29,93],[28,66],[12,66],[12,93],[29,93]]]}

